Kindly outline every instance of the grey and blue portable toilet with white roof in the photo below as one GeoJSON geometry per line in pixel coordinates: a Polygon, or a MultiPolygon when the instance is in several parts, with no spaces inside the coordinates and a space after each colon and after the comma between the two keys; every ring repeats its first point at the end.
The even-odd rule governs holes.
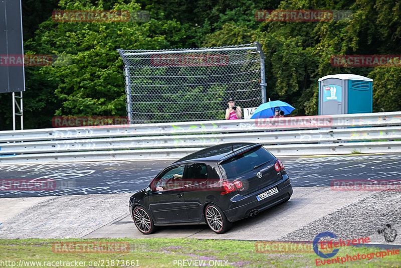
{"type": "Polygon", "coordinates": [[[356,74],[319,78],[319,115],[372,112],[373,79],[356,74]]]}

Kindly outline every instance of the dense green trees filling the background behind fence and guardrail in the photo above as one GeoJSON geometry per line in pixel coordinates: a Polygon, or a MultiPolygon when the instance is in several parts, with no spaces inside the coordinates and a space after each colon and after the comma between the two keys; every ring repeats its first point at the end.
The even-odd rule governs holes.
{"type": "MultiPolygon", "coordinates": [[[[267,96],[291,103],[296,107],[293,115],[317,114],[317,80],[337,73],[359,74],[374,80],[374,111],[401,109],[400,67],[334,67],[330,62],[332,55],[400,55],[400,2],[22,0],[22,5],[25,52],[71,59],[71,64],[26,67],[26,128],[49,127],[54,115],[125,115],[123,63],[118,48],[215,47],[255,41],[261,43],[266,54],[267,96]],[[257,10],[275,9],[351,10],[353,14],[350,20],[330,22],[255,20],[257,10]],[[53,10],[146,10],[151,19],[56,23],[51,19],[53,10]]],[[[192,88],[191,93],[225,90],[216,87],[192,88]]],[[[224,97],[222,93],[222,100],[224,97]]],[[[191,95],[183,99],[190,101],[191,95]]],[[[225,108],[218,107],[218,102],[216,105],[210,110],[225,108]]],[[[165,108],[174,110],[173,106],[165,108]]],[[[0,95],[0,111],[4,114],[0,128],[10,129],[8,94],[0,95]]]]}

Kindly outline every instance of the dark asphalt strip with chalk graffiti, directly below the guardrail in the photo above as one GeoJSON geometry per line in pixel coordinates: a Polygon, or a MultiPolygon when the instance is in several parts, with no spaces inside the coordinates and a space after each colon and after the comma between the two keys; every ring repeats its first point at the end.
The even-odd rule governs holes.
{"type": "MultiPolygon", "coordinates": [[[[332,180],[401,179],[401,154],[280,157],[293,187],[330,186],[332,180]]],[[[51,179],[55,190],[0,191],[0,198],[134,193],[173,161],[0,165],[0,181],[51,179]]]]}

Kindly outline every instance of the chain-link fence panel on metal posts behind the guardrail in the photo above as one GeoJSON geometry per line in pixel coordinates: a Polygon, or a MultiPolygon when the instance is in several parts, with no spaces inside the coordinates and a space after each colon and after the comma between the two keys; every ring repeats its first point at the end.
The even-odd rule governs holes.
{"type": "Polygon", "coordinates": [[[121,50],[131,123],[224,119],[266,102],[259,43],[182,50],[121,50]]]}

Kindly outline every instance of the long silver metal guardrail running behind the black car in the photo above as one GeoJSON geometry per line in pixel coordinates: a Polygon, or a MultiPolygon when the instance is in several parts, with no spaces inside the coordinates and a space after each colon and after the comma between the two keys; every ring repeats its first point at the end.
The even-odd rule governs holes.
{"type": "Polygon", "coordinates": [[[0,163],[177,159],[255,142],[275,155],[401,152],[401,112],[0,131],[0,163]]]}

